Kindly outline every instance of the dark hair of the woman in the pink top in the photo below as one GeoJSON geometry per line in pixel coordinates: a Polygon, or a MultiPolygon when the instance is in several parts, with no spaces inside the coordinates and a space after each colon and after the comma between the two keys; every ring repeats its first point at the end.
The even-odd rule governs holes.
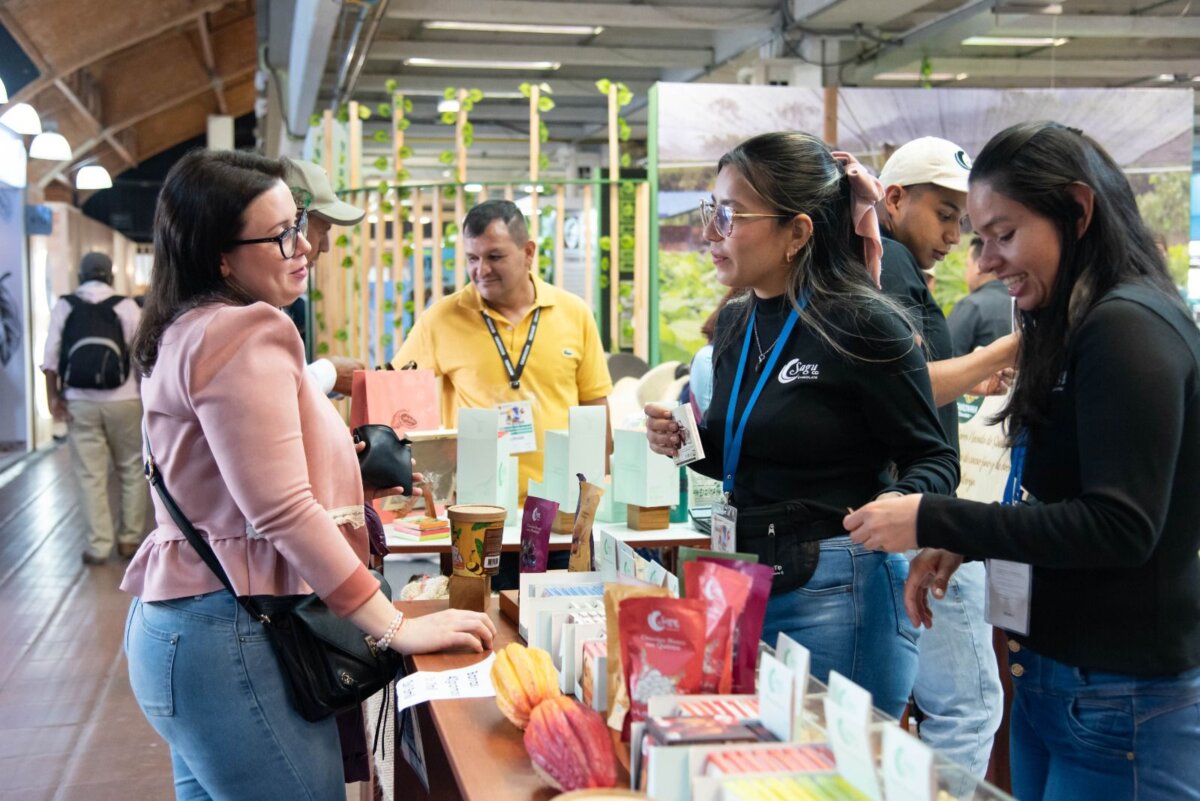
{"type": "Polygon", "coordinates": [[[245,224],[246,207],[286,174],[282,159],[234,150],[193,150],[170,169],[154,219],[154,267],[133,362],[149,375],[163,332],[203,303],[245,306],[250,297],[221,276],[221,254],[245,224]]]}

